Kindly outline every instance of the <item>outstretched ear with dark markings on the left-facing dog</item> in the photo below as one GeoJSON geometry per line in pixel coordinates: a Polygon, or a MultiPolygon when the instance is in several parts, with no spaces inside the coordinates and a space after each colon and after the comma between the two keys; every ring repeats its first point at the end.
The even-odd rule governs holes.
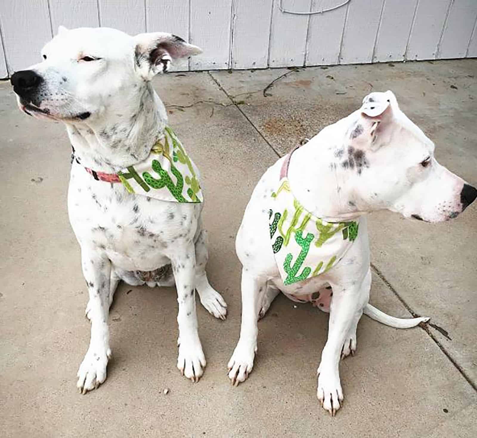
{"type": "Polygon", "coordinates": [[[146,80],[169,70],[172,60],[198,55],[202,50],[172,33],[141,33],[135,39],[135,65],[146,80]]]}

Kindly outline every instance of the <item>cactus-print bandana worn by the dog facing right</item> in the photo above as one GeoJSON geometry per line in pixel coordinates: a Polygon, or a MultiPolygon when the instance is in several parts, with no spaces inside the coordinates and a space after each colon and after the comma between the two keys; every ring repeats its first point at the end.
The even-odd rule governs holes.
{"type": "Polygon", "coordinates": [[[291,285],[336,265],[356,239],[359,219],[332,223],[313,216],[293,196],[285,175],[271,194],[269,225],[281,278],[285,285],[291,285]]]}

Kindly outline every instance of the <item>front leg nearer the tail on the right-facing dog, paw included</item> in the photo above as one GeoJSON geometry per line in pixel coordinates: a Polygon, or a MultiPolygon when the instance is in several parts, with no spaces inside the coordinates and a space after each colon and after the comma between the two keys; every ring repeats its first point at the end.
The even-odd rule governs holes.
{"type": "MultiPolygon", "coordinates": [[[[321,353],[318,367],[317,396],[321,405],[332,416],[340,408],[343,391],[340,382],[338,365],[346,340],[349,342],[350,330],[363,314],[363,307],[369,297],[371,272],[368,270],[361,282],[355,285],[338,285],[333,287],[328,340],[321,353]]],[[[354,335],[355,336],[355,335],[354,335]]]]}

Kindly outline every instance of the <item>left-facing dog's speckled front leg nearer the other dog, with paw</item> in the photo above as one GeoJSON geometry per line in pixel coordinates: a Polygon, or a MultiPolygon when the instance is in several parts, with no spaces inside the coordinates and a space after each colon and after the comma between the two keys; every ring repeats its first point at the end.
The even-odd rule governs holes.
{"type": "Polygon", "coordinates": [[[179,324],[177,368],[183,376],[185,375],[193,382],[198,382],[204,374],[203,368],[206,366],[206,358],[197,332],[196,254],[194,244],[190,242],[186,245],[181,254],[171,257],[171,262],[174,278],[176,279],[177,301],[179,302],[179,313],[177,314],[177,323],[179,324]]]}

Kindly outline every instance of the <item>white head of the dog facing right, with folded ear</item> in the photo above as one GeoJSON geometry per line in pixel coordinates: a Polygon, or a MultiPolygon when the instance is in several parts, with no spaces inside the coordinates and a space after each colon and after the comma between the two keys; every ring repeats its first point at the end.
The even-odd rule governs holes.
{"type": "Polygon", "coordinates": [[[477,190],[437,163],[434,143],[399,109],[393,92],[363,99],[345,141],[342,167],[355,173],[358,199],[426,222],[456,217],[477,190]]]}

